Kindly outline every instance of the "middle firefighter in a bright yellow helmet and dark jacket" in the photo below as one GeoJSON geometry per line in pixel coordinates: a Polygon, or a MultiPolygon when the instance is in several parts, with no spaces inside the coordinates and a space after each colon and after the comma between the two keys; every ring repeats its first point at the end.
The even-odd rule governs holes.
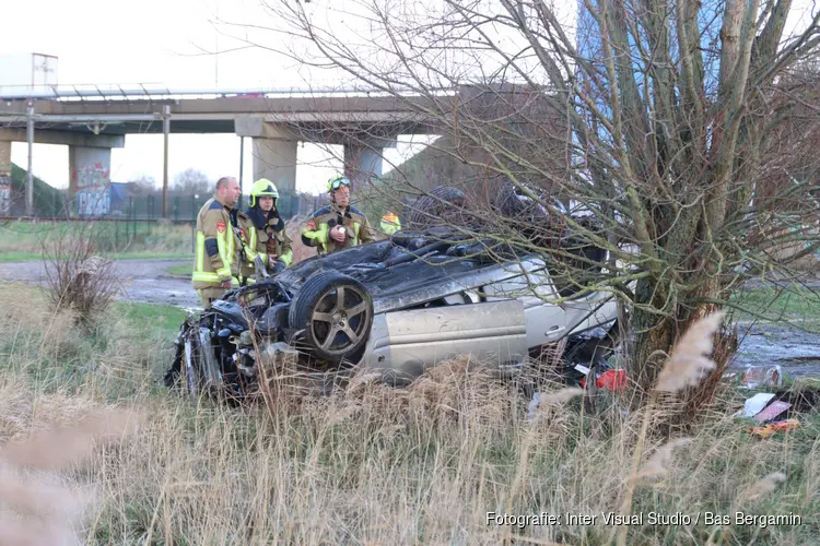
{"type": "Polygon", "coordinates": [[[267,178],[260,178],[250,189],[250,206],[239,213],[239,237],[244,257],[241,260],[241,284],[255,281],[256,257],[262,259],[268,274],[276,275],[293,262],[291,239],[284,232],[284,221],[277,210],[279,190],[267,178]]]}

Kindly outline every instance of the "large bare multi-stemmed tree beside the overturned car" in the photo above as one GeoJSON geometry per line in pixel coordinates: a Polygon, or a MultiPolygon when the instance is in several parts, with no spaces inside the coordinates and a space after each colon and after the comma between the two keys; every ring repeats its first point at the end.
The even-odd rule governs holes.
{"type": "MultiPolygon", "coordinates": [[[[575,23],[544,0],[330,5],[269,0],[270,26],[243,25],[245,39],[342,70],[441,134],[433,149],[458,166],[446,182],[464,190],[465,214],[554,258],[570,288],[557,301],[605,289],[629,304],[644,384],[655,355],[737,305],[729,295],[745,280],[789,275],[789,260],[820,245],[806,149],[817,131],[796,130],[818,127],[801,64],[818,50],[820,13],[786,37],[790,0],[583,0],[575,23]],[[558,198],[596,221],[488,222],[511,189],[553,218],[558,198]],[[805,248],[773,257],[795,242],[805,248]]],[[[436,199],[413,180],[405,189],[436,199]]]]}

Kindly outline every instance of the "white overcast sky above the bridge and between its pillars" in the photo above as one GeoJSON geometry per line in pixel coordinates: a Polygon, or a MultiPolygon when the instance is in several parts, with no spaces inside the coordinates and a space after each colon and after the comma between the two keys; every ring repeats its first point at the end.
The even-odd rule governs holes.
{"type": "MultiPolygon", "coordinates": [[[[279,0],[269,0],[278,2],[279,0]]],[[[338,7],[341,0],[314,0],[314,10],[338,7]]],[[[429,0],[433,1],[433,0],[429,0]]],[[[569,5],[570,2],[566,2],[569,5]]],[[[811,0],[796,0],[788,27],[806,21],[811,0]]],[[[225,36],[229,31],[215,28],[216,17],[229,22],[254,22],[274,25],[258,0],[26,0],[5,2],[0,55],[39,52],[58,60],[60,84],[155,83],[172,88],[282,88],[339,84],[340,74],[311,70],[263,48],[226,51],[238,44],[225,36]],[[13,22],[13,23],[12,23],[13,22]],[[220,55],[211,55],[222,51],[220,55]],[[333,79],[332,76],[337,76],[333,79]]],[[[327,17],[341,24],[338,12],[327,17]]],[[[341,17],[344,19],[344,17],[341,17]]],[[[787,28],[788,28],[787,27],[787,28]]],[[[347,31],[349,32],[349,29],[347,31]]],[[[270,40],[272,34],[259,31],[270,40]]],[[[361,36],[356,36],[361,39],[361,36]]],[[[351,38],[353,39],[353,38],[351,38]]],[[[279,45],[277,45],[279,46],[279,45]]],[[[4,82],[8,83],[8,82],[4,82]]],[[[395,150],[385,151],[395,164],[423,147],[426,142],[401,135],[395,150]]],[[[112,180],[127,181],[151,176],[162,181],[162,135],[128,135],[125,149],[112,153],[112,180]]],[[[337,149],[337,157],[341,150],[337,149]]],[[[25,168],[27,145],[14,143],[12,161],[25,168]]],[[[231,134],[172,134],[169,139],[169,176],[189,167],[202,170],[211,179],[238,176],[239,139],[231,134]]],[[[297,189],[316,191],[341,168],[341,162],[329,157],[321,147],[300,147],[296,170],[297,189]]],[[[385,162],[384,170],[388,170],[385,162]]],[[[36,144],[34,174],[52,186],[68,186],[68,146],[36,144]]],[[[250,140],[245,142],[244,177],[253,182],[250,140]]]]}

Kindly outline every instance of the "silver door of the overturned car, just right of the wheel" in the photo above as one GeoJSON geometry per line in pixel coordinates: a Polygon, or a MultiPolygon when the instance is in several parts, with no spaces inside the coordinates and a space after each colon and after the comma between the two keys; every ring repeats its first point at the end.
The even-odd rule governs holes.
{"type": "Polygon", "coordinates": [[[460,355],[500,369],[524,361],[526,334],[524,305],[514,299],[385,312],[374,317],[363,364],[396,383],[460,355]]]}

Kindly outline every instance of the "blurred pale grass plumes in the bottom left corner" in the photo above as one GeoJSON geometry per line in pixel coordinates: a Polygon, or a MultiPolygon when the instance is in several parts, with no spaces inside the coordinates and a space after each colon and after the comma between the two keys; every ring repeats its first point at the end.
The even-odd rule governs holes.
{"type": "MultiPolygon", "coordinates": [[[[3,402],[20,402],[20,387],[3,383],[3,402]]],[[[0,545],[77,544],[77,530],[87,525],[98,499],[93,484],[81,487],[67,479],[67,471],[75,473],[89,460],[104,456],[102,448],[120,443],[140,424],[137,413],[79,396],[60,401],[45,395],[37,402],[37,412],[25,404],[28,412],[17,404],[3,408],[7,423],[12,428],[23,425],[26,432],[3,431],[10,439],[0,448],[0,503],[5,507],[0,512],[0,545]],[[60,424],[66,414],[74,423],[60,424]]]]}

